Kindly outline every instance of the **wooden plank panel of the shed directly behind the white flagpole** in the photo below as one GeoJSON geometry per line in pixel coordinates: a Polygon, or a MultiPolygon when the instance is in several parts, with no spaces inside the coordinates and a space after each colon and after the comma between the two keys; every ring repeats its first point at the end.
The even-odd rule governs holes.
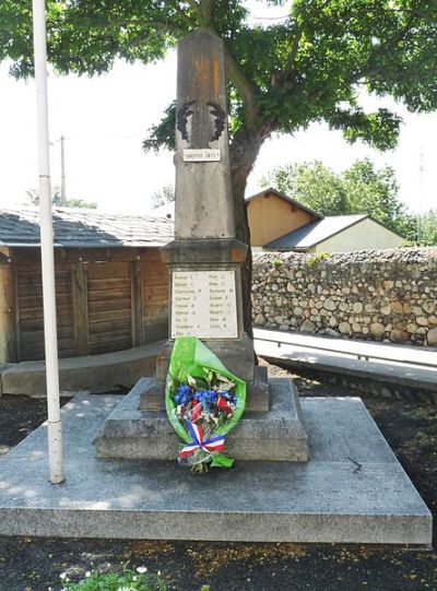
{"type": "MultiPolygon", "coordinates": [[[[70,263],[56,264],[59,357],[74,357],[73,303],[70,263]]],[[[43,283],[40,263],[15,265],[17,351],[20,360],[44,359],[43,283]]]]}

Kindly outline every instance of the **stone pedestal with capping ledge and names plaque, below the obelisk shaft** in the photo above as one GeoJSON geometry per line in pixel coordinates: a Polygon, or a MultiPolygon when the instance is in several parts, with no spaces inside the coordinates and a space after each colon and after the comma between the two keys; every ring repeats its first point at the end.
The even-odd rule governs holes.
{"type": "Polygon", "coordinates": [[[170,272],[170,339],[157,356],[156,383],[150,388],[163,395],[174,339],[189,334],[246,381],[248,399],[257,398],[252,407],[267,411],[267,373],[256,367],[253,340],[243,327],[240,265],[247,246],[235,238],[187,239],[161,253],[170,272]]]}

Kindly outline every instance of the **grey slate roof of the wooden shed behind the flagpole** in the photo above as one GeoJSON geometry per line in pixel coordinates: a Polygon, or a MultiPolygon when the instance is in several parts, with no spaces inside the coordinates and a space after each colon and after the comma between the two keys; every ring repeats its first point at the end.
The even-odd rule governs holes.
{"type": "MultiPolygon", "coordinates": [[[[66,248],[163,246],[173,239],[174,222],[140,214],[101,213],[55,208],[55,246],[66,248]]],[[[39,210],[0,210],[0,246],[39,246],[39,210]]]]}

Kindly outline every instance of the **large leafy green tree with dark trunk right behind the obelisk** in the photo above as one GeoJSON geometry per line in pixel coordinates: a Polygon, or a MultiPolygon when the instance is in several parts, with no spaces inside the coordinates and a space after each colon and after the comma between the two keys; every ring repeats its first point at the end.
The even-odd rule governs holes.
{"type": "MultiPolygon", "coordinates": [[[[361,87],[412,111],[437,105],[437,7],[428,0],[265,0],[283,20],[249,26],[243,0],[47,0],[48,57],[59,73],[101,74],[116,58],[149,63],[189,32],[213,29],[225,44],[232,182],[237,234],[249,241],[244,193],[260,147],[273,132],[326,121],[351,142],[393,147],[400,117],[366,113],[361,87]],[[287,14],[286,14],[287,12],[287,14]]],[[[31,0],[0,2],[0,61],[31,75],[31,0]]],[[[175,109],[145,147],[174,144],[175,109]]],[[[246,297],[249,300],[249,282],[246,297]]],[[[250,324],[248,316],[246,324],[250,324]]]]}

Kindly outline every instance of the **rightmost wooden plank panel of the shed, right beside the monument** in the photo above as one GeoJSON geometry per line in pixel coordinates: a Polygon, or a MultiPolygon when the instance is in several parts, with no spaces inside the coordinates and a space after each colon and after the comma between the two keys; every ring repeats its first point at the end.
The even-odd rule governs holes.
{"type": "Polygon", "coordinates": [[[157,250],[147,250],[141,260],[143,342],[168,336],[168,268],[157,250]]]}

